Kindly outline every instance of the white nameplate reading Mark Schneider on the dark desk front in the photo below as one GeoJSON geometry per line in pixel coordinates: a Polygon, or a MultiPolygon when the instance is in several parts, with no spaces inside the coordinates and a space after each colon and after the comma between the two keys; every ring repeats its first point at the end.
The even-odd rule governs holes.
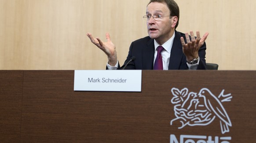
{"type": "Polygon", "coordinates": [[[74,91],[141,92],[142,70],[75,70],[74,91]]]}

